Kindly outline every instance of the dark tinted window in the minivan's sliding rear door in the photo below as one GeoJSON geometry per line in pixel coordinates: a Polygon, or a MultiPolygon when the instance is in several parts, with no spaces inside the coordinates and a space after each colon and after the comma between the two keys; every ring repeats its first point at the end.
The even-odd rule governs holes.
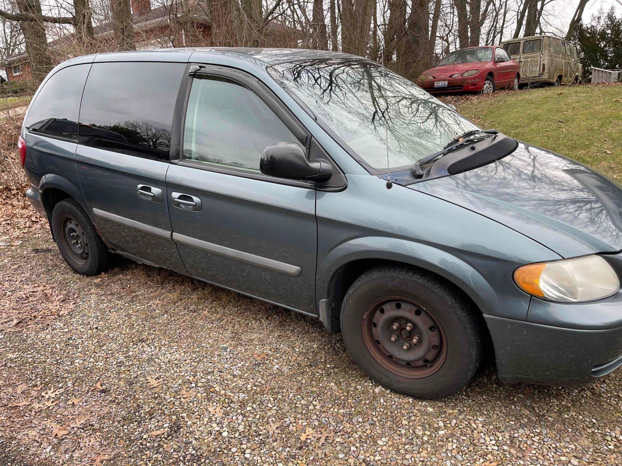
{"type": "Polygon", "coordinates": [[[169,160],[184,63],[93,63],[80,110],[80,144],[169,160]]]}

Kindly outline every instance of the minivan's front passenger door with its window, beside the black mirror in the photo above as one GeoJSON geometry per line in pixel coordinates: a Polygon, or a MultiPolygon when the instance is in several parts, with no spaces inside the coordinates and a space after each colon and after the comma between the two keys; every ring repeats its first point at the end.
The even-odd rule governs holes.
{"type": "Polygon", "coordinates": [[[308,136],[243,73],[208,66],[190,85],[180,160],[166,177],[185,267],[211,283],[317,314],[315,188],[259,171],[268,145],[306,145],[308,136]]]}

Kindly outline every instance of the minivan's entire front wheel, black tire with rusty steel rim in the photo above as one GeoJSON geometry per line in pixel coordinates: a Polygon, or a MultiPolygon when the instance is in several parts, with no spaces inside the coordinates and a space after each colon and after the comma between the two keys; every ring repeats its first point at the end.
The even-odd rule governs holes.
{"type": "Polygon", "coordinates": [[[350,287],[341,333],[353,359],[373,380],[417,398],[460,390],[481,360],[475,314],[439,278],[378,267],[350,287]]]}

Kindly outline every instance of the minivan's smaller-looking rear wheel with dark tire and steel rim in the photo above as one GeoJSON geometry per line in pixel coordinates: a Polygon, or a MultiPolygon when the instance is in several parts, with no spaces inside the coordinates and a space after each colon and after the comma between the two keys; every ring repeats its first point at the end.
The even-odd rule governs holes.
{"type": "Polygon", "coordinates": [[[54,206],[52,231],[60,254],[73,270],[87,276],[106,270],[110,259],[108,248],[78,201],[64,199],[54,206]],[[73,241],[76,243],[72,245],[73,241]]]}

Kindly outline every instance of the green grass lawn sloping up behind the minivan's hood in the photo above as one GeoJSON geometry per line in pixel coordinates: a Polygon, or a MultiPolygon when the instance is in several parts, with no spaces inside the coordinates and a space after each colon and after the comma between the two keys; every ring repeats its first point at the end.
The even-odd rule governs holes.
{"type": "Polygon", "coordinates": [[[483,128],[554,150],[622,181],[622,85],[562,86],[457,99],[483,128]]]}

